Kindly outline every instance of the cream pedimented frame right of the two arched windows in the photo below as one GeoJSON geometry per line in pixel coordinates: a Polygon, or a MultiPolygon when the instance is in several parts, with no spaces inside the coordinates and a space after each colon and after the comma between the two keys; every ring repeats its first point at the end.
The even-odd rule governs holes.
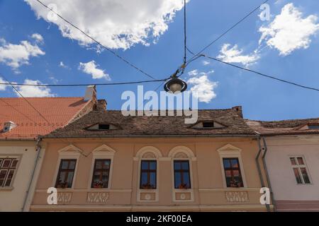
{"type": "Polygon", "coordinates": [[[244,186],[240,187],[242,189],[247,188],[247,182],[246,182],[246,177],[245,177],[245,171],[244,171],[244,164],[242,162],[242,149],[235,147],[234,145],[231,145],[230,143],[224,145],[221,148],[217,149],[219,157],[220,157],[220,167],[222,171],[222,176],[223,176],[223,186],[225,189],[234,189],[233,187],[227,186],[226,183],[226,175],[225,175],[225,167],[224,167],[224,158],[237,158],[238,162],[240,164],[240,174],[242,176],[242,184],[244,186]]]}

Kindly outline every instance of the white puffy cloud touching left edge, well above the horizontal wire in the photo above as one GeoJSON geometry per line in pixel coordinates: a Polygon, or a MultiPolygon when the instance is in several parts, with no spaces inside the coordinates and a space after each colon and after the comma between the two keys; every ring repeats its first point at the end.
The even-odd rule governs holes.
{"type": "Polygon", "coordinates": [[[37,44],[31,44],[28,41],[21,41],[20,44],[7,43],[2,39],[0,42],[0,62],[11,66],[15,71],[23,64],[29,64],[30,57],[44,55],[37,44]]]}

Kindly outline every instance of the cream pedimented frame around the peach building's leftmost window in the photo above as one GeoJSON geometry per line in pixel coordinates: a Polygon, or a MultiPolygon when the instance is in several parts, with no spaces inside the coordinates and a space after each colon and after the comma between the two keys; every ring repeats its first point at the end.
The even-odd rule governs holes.
{"type": "Polygon", "coordinates": [[[55,167],[55,176],[53,177],[52,187],[55,187],[55,184],[57,182],[57,174],[59,174],[61,161],[62,160],[77,160],[75,164],[73,179],[72,179],[72,186],[70,188],[65,188],[62,190],[74,189],[74,184],[77,179],[77,169],[79,167],[79,157],[81,153],[83,153],[83,150],[81,150],[80,148],[77,148],[75,145],[67,145],[65,148],[62,148],[58,150],[57,152],[59,153],[59,157],[57,159],[57,166],[55,167]]]}

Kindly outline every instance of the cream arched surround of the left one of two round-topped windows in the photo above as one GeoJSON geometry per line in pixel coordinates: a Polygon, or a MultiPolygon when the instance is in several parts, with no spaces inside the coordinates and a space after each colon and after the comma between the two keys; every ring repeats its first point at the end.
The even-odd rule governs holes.
{"type": "Polygon", "coordinates": [[[162,153],[153,146],[145,146],[140,148],[134,157],[134,161],[138,162],[138,202],[158,202],[159,201],[159,159],[162,159],[162,153]],[[152,153],[154,157],[148,157],[147,154],[152,153]],[[156,160],[156,189],[140,189],[140,170],[142,160],[156,160]],[[155,193],[155,200],[141,200],[141,193],[155,193]]]}

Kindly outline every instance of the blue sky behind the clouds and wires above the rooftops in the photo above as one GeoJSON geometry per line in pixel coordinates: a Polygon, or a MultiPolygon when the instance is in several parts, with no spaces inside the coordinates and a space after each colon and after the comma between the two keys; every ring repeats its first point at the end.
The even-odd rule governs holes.
{"type": "MultiPolygon", "coordinates": [[[[0,78],[2,75],[16,83],[38,81],[38,83],[57,84],[111,83],[150,79],[124,64],[113,54],[107,51],[97,51],[95,44],[86,43],[87,45],[84,46],[83,40],[81,40],[84,37],[80,37],[77,33],[69,34],[69,37],[72,36],[73,39],[63,37],[58,27],[60,23],[48,23],[43,17],[37,18],[35,12],[41,16],[46,15],[43,13],[47,13],[47,11],[42,6],[37,6],[36,1],[28,1],[33,4],[32,7],[22,0],[0,0],[0,78]],[[33,34],[42,36],[43,40],[33,34]],[[82,44],[79,44],[79,40],[82,41],[82,44]],[[33,48],[28,59],[22,58],[14,61],[13,54],[10,54],[10,57],[4,57],[4,49],[17,47],[10,44],[21,45],[21,41],[26,41],[24,47],[30,44],[30,47],[33,48]],[[13,64],[15,62],[16,64],[13,64]],[[61,66],[61,62],[64,66],[61,66]],[[94,74],[85,73],[84,65],[88,66],[86,71],[91,70],[92,64],[87,64],[89,62],[94,62],[96,66],[97,71],[93,71],[94,74]],[[94,79],[94,76],[99,78],[94,79]]],[[[163,0],[157,1],[155,6],[150,3],[145,6],[143,5],[145,0],[139,0],[136,1],[136,6],[130,6],[131,15],[125,12],[121,15],[121,7],[113,6],[114,1],[108,0],[109,5],[103,5],[103,7],[108,7],[107,13],[103,13],[103,7],[97,5],[91,8],[79,6],[76,8],[78,12],[81,12],[79,14],[73,13],[72,7],[69,9],[61,4],[63,1],[43,2],[47,4],[55,2],[58,9],[65,7],[60,10],[62,16],[76,24],[79,21],[81,23],[83,20],[90,20],[89,22],[84,21],[80,25],[84,27],[90,25],[85,28],[91,29],[92,34],[96,31],[93,29],[95,27],[97,30],[103,29],[103,26],[95,24],[97,18],[99,23],[106,21],[107,23],[103,23],[106,26],[103,30],[103,36],[96,36],[96,39],[99,40],[99,37],[102,37],[103,43],[108,47],[113,47],[118,54],[155,78],[167,78],[182,63],[183,12],[180,10],[181,3],[162,6],[159,2],[169,3],[172,1],[163,0]],[[97,11],[96,8],[101,10],[97,11]],[[82,13],[81,10],[87,12],[82,13]],[[175,10],[175,13],[174,15],[170,14],[172,16],[170,22],[165,21],[163,24],[162,20],[154,16],[153,11],[155,10],[159,15],[163,12],[168,13],[170,10],[175,10]],[[132,19],[130,16],[138,19],[132,19]],[[152,18],[155,23],[146,26],[145,29],[151,30],[151,32],[145,36],[139,29],[145,25],[143,21],[149,19],[147,16],[152,18]],[[132,26],[130,23],[133,23],[135,30],[133,28],[130,30],[130,26],[132,26]],[[113,40],[114,32],[121,29],[125,30],[124,34],[115,34],[118,35],[117,40],[113,40]],[[156,32],[159,32],[159,35],[156,32]],[[106,36],[109,38],[104,39],[106,36]],[[133,38],[125,40],[125,37],[133,38]]],[[[121,0],[121,4],[125,4],[125,1],[121,0]]],[[[188,47],[197,52],[261,3],[262,1],[257,0],[190,0],[187,4],[188,47]]],[[[319,88],[319,19],[316,18],[319,16],[319,1],[270,0],[269,6],[271,13],[269,21],[262,21],[259,18],[261,11],[257,11],[208,48],[205,53],[281,79],[319,88]],[[294,16],[298,17],[299,15],[299,18],[296,18],[300,22],[299,24],[291,23],[291,20],[285,22],[285,17],[282,15],[284,7],[286,7],[286,12],[290,10],[294,16]],[[276,20],[276,16],[280,15],[281,17],[276,20]],[[267,28],[270,33],[272,31],[279,32],[278,29],[275,30],[276,25],[279,27],[283,25],[283,29],[286,30],[268,36],[259,44],[262,35],[259,28],[267,28]],[[287,28],[292,25],[292,34],[296,37],[286,35],[289,34],[287,28]],[[298,34],[299,36],[300,34],[306,35],[299,37],[298,34]],[[270,41],[267,42],[267,40],[270,41]],[[284,47],[285,43],[289,43],[289,46],[284,47]],[[225,46],[225,44],[229,45],[225,46]],[[237,46],[234,47],[234,45],[237,46]],[[220,52],[223,47],[225,47],[224,50],[231,49],[233,52],[220,52]],[[234,54],[234,52],[235,57],[229,55],[234,54]]],[[[14,48],[11,51],[14,53],[14,48]]],[[[319,117],[318,92],[262,78],[253,73],[240,71],[208,59],[202,58],[192,62],[186,69],[183,79],[193,81],[193,83],[189,83],[189,88],[194,88],[199,83],[199,85],[206,85],[205,87],[208,86],[210,89],[208,93],[202,94],[200,98],[202,102],[199,102],[198,106],[200,109],[223,109],[242,105],[245,118],[261,120],[319,117]],[[207,61],[209,64],[204,65],[203,61],[207,61]],[[191,71],[193,73],[189,75],[191,71]]],[[[158,85],[159,83],[145,84],[144,90],[155,90],[158,85]]],[[[125,90],[137,91],[137,87],[136,85],[121,85],[97,88],[99,98],[107,100],[108,109],[121,109],[123,104],[121,94],[125,90]]],[[[159,90],[162,90],[162,87],[159,90]]],[[[26,94],[33,93],[33,90],[21,91],[26,94]]],[[[50,88],[50,90],[35,92],[35,95],[82,96],[84,91],[83,87],[50,88]]],[[[16,96],[11,88],[1,89],[0,86],[0,97],[16,96]]]]}

